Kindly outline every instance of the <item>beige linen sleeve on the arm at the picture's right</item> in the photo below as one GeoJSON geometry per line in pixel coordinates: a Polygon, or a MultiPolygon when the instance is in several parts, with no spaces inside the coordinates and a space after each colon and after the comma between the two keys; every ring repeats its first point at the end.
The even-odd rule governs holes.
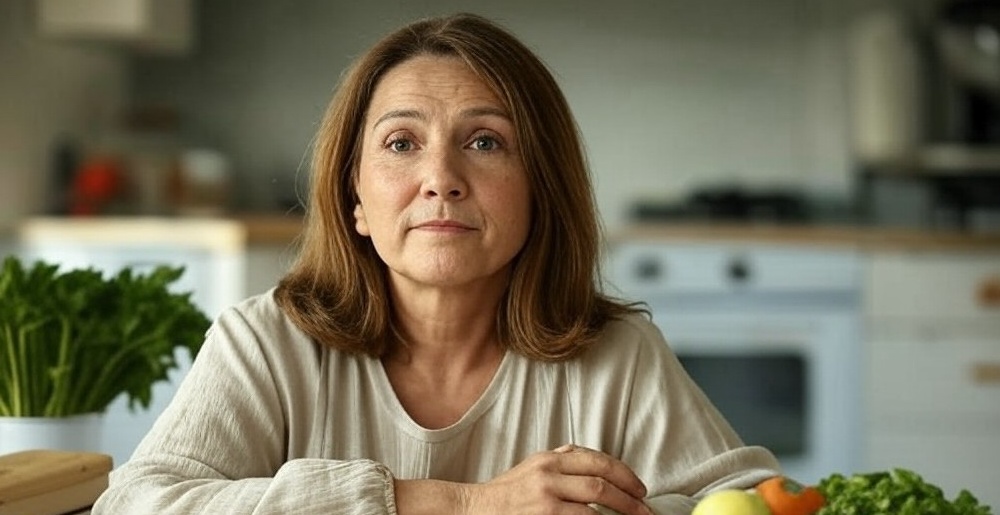
{"type": "Polygon", "coordinates": [[[617,440],[582,443],[628,464],[645,482],[654,512],[688,514],[711,491],[750,488],[780,474],[770,451],[743,445],[656,326],[636,317],[615,324],[611,333],[585,359],[579,402],[595,408],[592,419],[580,415],[584,437],[588,427],[602,427],[617,440]]]}

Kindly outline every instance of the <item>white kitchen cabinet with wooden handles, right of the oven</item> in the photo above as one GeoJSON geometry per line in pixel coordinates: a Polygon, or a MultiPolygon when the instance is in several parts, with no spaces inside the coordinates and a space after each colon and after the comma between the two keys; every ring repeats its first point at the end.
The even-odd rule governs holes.
{"type": "Polygon", "coordinates": [[[865,461],[1000,506],[1000,251],[880,251],[865,291],[865,461]]]}

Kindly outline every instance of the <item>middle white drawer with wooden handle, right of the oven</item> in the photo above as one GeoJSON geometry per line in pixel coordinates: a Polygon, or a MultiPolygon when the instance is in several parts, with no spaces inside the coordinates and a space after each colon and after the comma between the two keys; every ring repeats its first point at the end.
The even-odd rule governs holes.
{"type": "Polygon", "coordinates": [[[869,422],[992,423],[1000,431],[1000,336],[872,340],[866,348],[869,422]]]}

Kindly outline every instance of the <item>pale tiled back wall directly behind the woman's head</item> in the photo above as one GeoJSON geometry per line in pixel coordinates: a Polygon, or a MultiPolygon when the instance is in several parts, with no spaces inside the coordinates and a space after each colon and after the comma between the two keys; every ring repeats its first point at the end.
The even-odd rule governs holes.
{"type": "Polygon", "coordinates": [[[847,195],[847,25],[862,0],[201,3],[187,59],[142,59],[140,99],[180,106],[266,205],[303,168],[342,70],[387,31],[471,9],[550,65],[588,144],[609,228],[640,197],[719,181],[847,195]],[[347,4],[347,5],[345,5],[347,4]]]}

